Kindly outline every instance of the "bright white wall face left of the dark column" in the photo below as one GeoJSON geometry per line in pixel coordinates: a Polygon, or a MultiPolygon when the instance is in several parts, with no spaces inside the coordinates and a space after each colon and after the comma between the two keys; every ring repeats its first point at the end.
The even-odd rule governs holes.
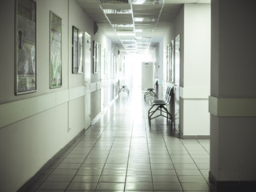
{"type": "Polygon", "coordinates": [[[184,6],[182,134],[210,135],[210,4],[184,6]]]}

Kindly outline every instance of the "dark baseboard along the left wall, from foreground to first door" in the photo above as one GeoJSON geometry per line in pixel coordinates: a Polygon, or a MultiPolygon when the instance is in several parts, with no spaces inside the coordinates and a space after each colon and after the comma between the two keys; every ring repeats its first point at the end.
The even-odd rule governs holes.
{"type": "Polygon", "coordinates": [[[23,186],[21,186],[17,192],[26,192],[27,189],[38,180],[42,176],[42,174],[71,146],[78,140],[78,138],[81,138],[83,134],[86,133],[86,130],[88,130],[90,127],[87,129],[81,130],[77,136],[75,136],[66,146],[62,148],[62,150],[59,150],[57,154],[54,155],[53,158],[51,158],[32,178],[30,178],[29,181],[27,181],[23,186]]]}

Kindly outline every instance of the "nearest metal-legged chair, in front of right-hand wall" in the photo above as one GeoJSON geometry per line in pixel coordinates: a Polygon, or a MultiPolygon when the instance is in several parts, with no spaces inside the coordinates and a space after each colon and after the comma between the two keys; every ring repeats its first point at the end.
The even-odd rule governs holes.
{"type": "Polygon", "coordinates": [[[148,110],[148,119],[151,122],[152,119],[158,118],[159,116],[170,119],[171,123],[173,123],[173,117],[170,112],[166,109],[166,106],[170,104],[171,98],[174,96],[174,87],[168,86],[166,90],[166,97],[163,100],[150,100],[150,110],[148,110]],[[155,114],[157,111],[160,114],[155,114]],[[155,115],[154,115],[155,114],[155,115]]]}

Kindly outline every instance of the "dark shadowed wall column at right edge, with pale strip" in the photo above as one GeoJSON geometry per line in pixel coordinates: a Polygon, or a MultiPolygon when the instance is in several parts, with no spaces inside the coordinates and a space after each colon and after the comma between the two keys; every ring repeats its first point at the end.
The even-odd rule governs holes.
{"type": "Polygon", "coordinates": [[[255,8],[211,3],[210,180],[218,188],[256,186],[255,8]]]}

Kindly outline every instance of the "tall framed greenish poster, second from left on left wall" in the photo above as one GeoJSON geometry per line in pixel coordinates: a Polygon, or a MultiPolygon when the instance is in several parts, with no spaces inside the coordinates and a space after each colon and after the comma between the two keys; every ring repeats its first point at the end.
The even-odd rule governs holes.
{"type": "Polygon", "coordinates": [[[62,86],[62,18],[50,11],[50,88],[62,86]]]}

